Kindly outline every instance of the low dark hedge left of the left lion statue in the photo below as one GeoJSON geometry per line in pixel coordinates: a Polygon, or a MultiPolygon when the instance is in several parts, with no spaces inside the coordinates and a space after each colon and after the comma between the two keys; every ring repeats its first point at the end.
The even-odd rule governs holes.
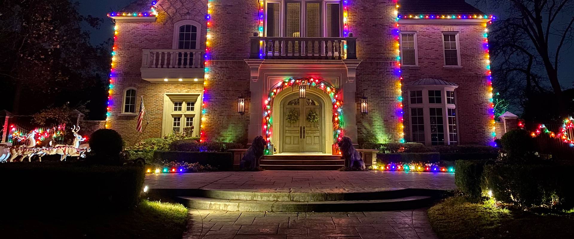
{"type": "Polygon", "coordinates": [[[230,152],[155,151],[153,158],[164,162],[210,164],[219,170],[233,169],[233,154],[230,152]]]}

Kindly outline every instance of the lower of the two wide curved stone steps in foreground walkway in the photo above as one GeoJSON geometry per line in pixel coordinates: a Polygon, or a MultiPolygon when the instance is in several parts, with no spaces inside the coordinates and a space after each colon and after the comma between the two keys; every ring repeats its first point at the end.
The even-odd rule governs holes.
{"type": "Polygon", "coordinates": [[[351,200],[351,201],[254,201],[215,199],[204,197],[177,197],[177,201],[187,207],[208,210],[228,211],[387,211],[414,209],[430,205],[434,201],[430,196],[410,196],[394,199],[351,200]]]}

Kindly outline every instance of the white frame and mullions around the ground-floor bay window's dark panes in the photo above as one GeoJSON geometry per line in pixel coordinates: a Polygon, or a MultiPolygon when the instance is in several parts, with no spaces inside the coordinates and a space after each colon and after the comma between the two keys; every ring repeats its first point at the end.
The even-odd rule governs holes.
{"type": "MultiPolygon", "coordinates": [[[[410,86],[408,88],[409,91],[409,109],[410,108],[422,108],[422,114],[424,116],[424,126],[425,126],[425,145],[430,146],[432,145],[430,139],[430,108],[442,108],[443,109],[443,126],[444,126],[444,145],[449,145],[450,143],[450,132],[448,130],[448,110],[447,108],[454,108],[456,113],[456,122],[460,122],[459,115],[458,115],[458,108],[456,107],[456,103],[458,102],[458,94],[456,92],[456,88],[458,86],[455,85],[415,85],[410,86]],[[422,104],[410,104],[410,91],[422,91],[422,104]],[[441,103],[440,104],[430,104],[429,103],[429,95],[428,91],[441,91],[441,103]],[[454,91],[455,92],[455,104],[447,104],[447,91],[454,91]],[[413,107],[410,107],[413,105],[413,107]]],[[[410,137],[412,138],[413,135],[413,122],[410,119],[410,111],[409,111],[409,124],[410,124],[410,137]]],[[[460,131],[458,124],[456,126],[457,132],[457,144],[460,144],[460,131]]],[[[412,139],[411,139],[412,140],[412,139]]]]}

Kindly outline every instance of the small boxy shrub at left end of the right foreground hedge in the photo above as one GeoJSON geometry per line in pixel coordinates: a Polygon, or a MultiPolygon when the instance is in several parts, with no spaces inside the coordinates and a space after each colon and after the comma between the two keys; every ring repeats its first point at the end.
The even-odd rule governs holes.
{"type": "Polygon", "coordinates": [[[490,163],[492,162],[485,160],[456,160],[456,187],[472,200],[478,201],[482,197],[481,183],[484,165],[490,163]]]}

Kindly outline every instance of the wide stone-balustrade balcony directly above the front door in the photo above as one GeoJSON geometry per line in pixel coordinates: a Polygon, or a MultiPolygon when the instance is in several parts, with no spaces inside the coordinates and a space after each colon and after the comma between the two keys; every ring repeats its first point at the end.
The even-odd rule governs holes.
{"type": "MultiPolygon", "coordinates": [[[[257,33],[255,33],[257,34],[257,33]]],[[[251,37],[251,59],[355,60],[356,37],[251,37]]]]}

